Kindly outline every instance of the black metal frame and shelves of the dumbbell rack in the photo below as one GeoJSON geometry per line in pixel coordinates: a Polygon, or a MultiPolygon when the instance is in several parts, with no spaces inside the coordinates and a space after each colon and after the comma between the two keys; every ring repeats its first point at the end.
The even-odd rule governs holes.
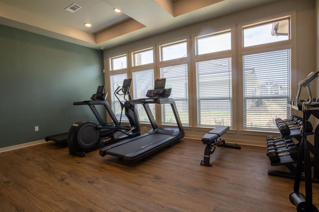
{"type": "MultiPolygon", "coordinates": [[[[291,104],[287,104],[287,106],[292,108],[292,109],[295,109],[295,110],[301,110],[301,107],[298,107],[298,106],[294,106],[291,104]]],[[[306,114],[307,114],[306,119],[307,120],[309,119],[309,117],[311,115],[313,115],[314,117],[319,119],[319,107],[307,106],[306,110],[307,110],[307,112],[306,112],[306,114]]],[[[314,173],[312,181],[315,183],[319,183],[319,124],[315,128],[315,132],[306,133],[306,136],[308,136],[308,135],[315,135],[314,145],[312,145],[308,140],[307,140],[307,142],[308,142],[309,151],[314,155],[314,157],[311,158],[311,160],[310,160],[310,164],[311,164],[311,167],[313,167],[313,173],[314,173]]],[[[290,135],[287,135],[287,136],[281,135],[281,137],[286,138],[286,139],[287,138],[295,138],[298,141],[298,143],[296,144],[297,147],[299,147],[300,141],[302,139],[302,135],[301,135],[299,129],[291,130],[290,135]]],[[[296,166],[294,164],[296,164],[296,163],[297,163],[297,160],[291,158],[290,155],[281,156],[281,157],[279,157],[278,162],[275,162],[275,163],[271,162],[271,166],[285,165],[289,169],[289,172],[270,169],[270,170],[268,170],[268,174],[273,175],[273,176],[294,179],[295,178],[295,171],[296,171],[296,166]]],[[[303,166],[302,166],[302,172],[304,172],[303,166]]],[[[304,180],[303,177],[301,177],[301,179],[304,180]]]]}

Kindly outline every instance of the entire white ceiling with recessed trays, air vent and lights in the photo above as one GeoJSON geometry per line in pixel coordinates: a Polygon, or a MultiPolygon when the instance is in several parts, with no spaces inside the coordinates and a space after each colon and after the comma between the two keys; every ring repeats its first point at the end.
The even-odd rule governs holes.
{"type": "Polygon", "coordinates": [[[0,0],[0,24],[108,49],[277,0],[160,0],[184,7],[185,3],[211,2],[176,17],[156,1],[159,0],[0,0]],[[82,8],[74,13],[65,11],[72,3],[82,8]],[[122,12],[115,13],[115,7],[122,12]],[[92,27],[85,27],[85,22],[92,27]]]}

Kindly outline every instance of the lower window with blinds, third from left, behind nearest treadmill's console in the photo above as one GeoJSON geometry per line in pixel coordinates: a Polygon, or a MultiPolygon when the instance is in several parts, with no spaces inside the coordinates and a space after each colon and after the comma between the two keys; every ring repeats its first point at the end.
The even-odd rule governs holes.
{"type": "MultiPolygon", "coordinates": [[[[166,88],[172,88],[171,98],[175,100],[182,124],[189,124],[187,64],[160,68],[161,78],[166,78],[166,88]]],[[[162,104],[162,123],[176,124],[169,104],[162,104]]]]}

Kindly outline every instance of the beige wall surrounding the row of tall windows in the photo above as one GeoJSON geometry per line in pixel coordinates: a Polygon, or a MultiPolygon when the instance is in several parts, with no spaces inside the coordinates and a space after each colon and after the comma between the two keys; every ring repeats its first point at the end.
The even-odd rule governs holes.
{"type": "MultiPolygon", "coordinates": [[[[317,0],[318,2],[318,0],[317,0]]],[[[211,19],[209,21],[201,22],[194,25],[182,27],[170,32],[165,32],[156,36],[138,40],[126,45],[118,46],[112,49],[104,51],[104,67],[108,69],[108,58],[115,56],[123,52],[128,52],[133,49],[141,48],[144,46],[150,46],[157,43],[166,42],[168,40],[176,39],[179,37],[193,35],[202,31],[213,31],[217,28],[222,28],[229,25],[235,25],[242,22],[251,21],[254,19],[260,19],[278,13],[296,10],[297,16],[297,74],[295,82],[298,83],[304,79],[311,71],[316,68],[316,47],[315,43],[315,0],[282,0],[271,4],[262,5],[249,10],[236,12],[231,15],[223,16],[220,18],[211,19]]],[[[238,67],[238,66],[237,66],[238,67]]],[[[194,71],[194,70],[191,70],[194,71]]],[[[238,72],[238,70],[236,70],[238,72]]],[[[109,93],[109,76],[105,76],[106,90],[109,93]]],[[[190,88],[189,88],[190,89],[190,88]]],[[[195,92],[194,92],[195,93],[195,92]]],[[[235,90],[233,91],[234,95],[235,90]]],[[[293,91],[295,94],[296,91],[293,91]]],[[[319,92],[318,92],[319,93],[319,92]]],[[[108,96],[110,101],[110,95],[108,96]]],[[[237,98],[237,104],[242,104],[242,98],[237,98]]],[[[195,111],[194,111],[195,112],[195,111]]],[[[294,111],[292,111],[294,112],[294,111]]],[[[237,117],[241,111],[237,112],[237,117]]],[[[236,120],[240,120],[237,118],[236,120]]],[[[314,120],[310,120],[314,121],[314,120]]],[[[236,124],[240,126],[239,123],[236,124]]],[[[150,129],[150,127],[148,127],[150,129]]],[[[198,131],[195,128],[185,130],[187,138],[201,138],[205,131],[198,131]]],[[[251,144],[251,145],[265,145],[265,136],[269,133],[241,133],[239,127],[237,127],[235,133],[226,133],[223,138],[226,138],[228,142],[251,144]],[[252,135],[254,134],[254,135],[252,135]]]]}

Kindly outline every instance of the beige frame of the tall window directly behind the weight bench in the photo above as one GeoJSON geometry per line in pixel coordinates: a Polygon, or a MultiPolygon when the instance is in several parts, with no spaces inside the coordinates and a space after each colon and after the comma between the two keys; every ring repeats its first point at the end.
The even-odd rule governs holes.
{"type": "Polygon", "coordinates": [[[233,112],[233,119],[232,119],[232,128],[228,130],[226,133],[236,133],[237,129],[237,95],[236,95],[236,85],[237,82],[237,72],[236,72],[236,63],[237,63],[237,57],[236,57],[236,33],[235,33],[235,25],[225,26],[221,28],[216,28],[214,30],[209,31],[203,31],[201,33],[193,34],[191,36],[192,39],[192,58],[193,58],[193,64],[192,64],[192,90],[193,96],[192,96],[192,104],[193,106],[193,120],[195,124],[195,130],[197,131],[210,131],[214,127],[208,127],[208,126],[198,126],[198,117],[197,117],[197,81],[196,81],[196,62],[201,61],[207,61],[207,60],[216,60],[221,58],[232,58],[232,97],[233,97],[233,105],[232,105],[232,112],[233,112]],[[212,52],[212,53],[206,53],[206,54],[197,54],[197,37],[202,36],[212,36],[212,35],[218,35],[218,34],[224,34],[226,32],[231,32],[231,49],[225,50],[225,51],[219,51],[219,52],[212,52]]]}

